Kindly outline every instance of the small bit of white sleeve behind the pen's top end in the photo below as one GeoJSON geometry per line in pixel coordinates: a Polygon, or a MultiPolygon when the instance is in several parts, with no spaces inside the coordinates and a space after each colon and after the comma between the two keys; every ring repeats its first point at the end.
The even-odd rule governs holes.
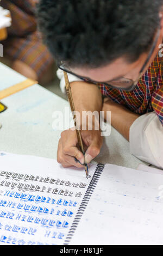
{"type": "MultiPolygon", "coordinates": [[[[68,80],[69,82],[75,82],[75,81],[83,81],[82,79],[78,78],[77,76],[71,75],[71,74],[67,74],[68,75],[68,80]]],[[[62,71],[61,69],[57,70],[57,77],[60,80],[60,89],[61,92],[66,94],[66,89],[65,89],[65,78],[64,78],[64,71],[62,71]]]]}

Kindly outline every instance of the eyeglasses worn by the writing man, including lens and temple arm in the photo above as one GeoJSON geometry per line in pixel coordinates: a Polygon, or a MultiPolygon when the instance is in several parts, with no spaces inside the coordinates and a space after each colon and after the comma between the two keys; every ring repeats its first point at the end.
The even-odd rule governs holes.
{"type": "Polygon", "coordinates": [[[58,65],[58,68],[63,70],[63,71],[65,71],[65,72],[67,72],[68,74],[77,76],[78,78],[80,78],[81,80],[83,80],[83,81],[85,81],[87,83],[93,83],[93,84],[97,84],[97,85],[98,84],[104,84],[105,86],[110,87],[110,88],[116,88],[116,89],[131,91],[131,90],[133,90],[135,88],[135,86],[136,86],[137,82],[139,81],[140,77],[143,75],[143,71],[145,70],[146,65],[149,62],[149,59],[152,57],[152,54],[153,54],[153,52],[155,50],[156,44],[158,42],[159,35],[160,35],[160,28],[158,29],[158,32],[157,32],[155,40],[154,40],[154,42],[152,44],[151,50],[149,51],[148,57],[146,59],[146,62],[145,62],[145,64],[143,64],[143,66],[142,66],[142,68],[141,68],[141,70],[139,72],[139,78],[137,78],[136,81],[133,81],[133,80],[130,80],[128,78],[122,77],[120,80],[112,80],[110,82],[96,82],[96,81],[91,80],[88,77],[81,77],[81,76],[79,76],[77,74],[74,74],[71,70],[66,69],[66,65],[64,63],[62,63],[62,62],[61,62],[61,65],[58,65]]]}

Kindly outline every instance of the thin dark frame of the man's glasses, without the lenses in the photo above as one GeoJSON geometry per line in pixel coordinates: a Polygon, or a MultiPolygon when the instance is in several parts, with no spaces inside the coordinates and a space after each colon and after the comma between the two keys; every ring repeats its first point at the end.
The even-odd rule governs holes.
{"type": "MultiPolygon", "coordinates": [[[[145,63],[143,64],[143,66],[142,66],[142,68],[141,68],[141,70],[140,70],[140,72],[139,72],[139,78],[137,78],[137,80],[135,80],[135,81],[130,80],[130,79],[128,79],[128,78],[125,78],[125,79],[128,79],[129,81],[132,81],[131,86],[128,87],[128,88],[124,88],[124,87],[115,87],[115,86],[112,86],[112,85],[109,84],[109,83],[93,81],[93,80],[91,80],[89,77],[82,77],[82,76],[79,76],[79,75],[77,75],[77,74],[74,74],[73,72],[71,72],[71,71],[65,69],[64,67],[62,67],[61,65],[58,65],[58,68],[61,69],[62,71],[67,72],[68,74],[71,74],[71,75],[73,75],[73,76],[76,76],[76,77],[80,78],[80,80],[83,80],[83,81],[85,81],[85,82],[87,82],[87,83],[93,83],[93,84],[96,84],[96,85],[104,84],[105,86],[110,87],[110,88],[121,89],[121,90],[126,90],[126,91],[129,91],[129,92],[130,92],[131,90],[133,90],[133,89],[135,88],[135,86],[136,86],[137,82],[139,81],[140,77],[143,75],[143,70],[145,70],[145,68],[146,68],[146,66],[147,66],[147,64],[148,64],[148,62],[149,62],[149,59],[152,57],[152,54],[153,54],[153,52],[154,52],[154,50],[155,50],[155,47],[156,47],[156,44],[157,44],[157,42],[158,42],[159,36],[160,36],[160,28],[158,29],[158,32],[156,33],[155,40],[154,40],[154,42],[153,42],[153,44],[152,44],[151,50],[150,50],[149,53],[148,53],[147,59],[146,59],[145,63]]],[[[123,77],[123,78],[124,78],[124,77],[123,77]]],[[[111,82],[111,81],[110,81],[110,82],[111,82]]]]}

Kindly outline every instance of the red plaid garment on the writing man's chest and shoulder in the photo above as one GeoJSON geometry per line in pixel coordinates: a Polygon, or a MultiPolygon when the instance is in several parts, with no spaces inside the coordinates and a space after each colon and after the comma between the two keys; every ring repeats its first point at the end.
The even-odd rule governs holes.
{"type": "Polygon", "coordinates": [[[103,95],[136,114],[155,111],[163,125],[163,58],[159,53],[132,92],[112,89],[104,84],[99,84],[99,89],[103,95]]]}

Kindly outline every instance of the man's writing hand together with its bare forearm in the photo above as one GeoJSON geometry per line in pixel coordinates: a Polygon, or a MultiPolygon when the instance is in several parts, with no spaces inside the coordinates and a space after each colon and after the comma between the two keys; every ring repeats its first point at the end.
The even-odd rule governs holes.
{"type": "MultiPolygon", "coordinates": [[[[74,107],[80,113],[80,118],[83,117],[83,111],[98,113],[102,110],[102,94],[95,84],[85,82],[72,82],[71,91],[74,101],[74,107]]],[[[61,133],[61,138],[58,144],[57,160],[64,167],[76,166],[83,168],[85,163],[90,163],[95,158],[102,147],[103,137],[101,130],[96,130],[96,125],[99,124],[99,119],[95,118],[92,121],[92,130],[88,129],[88,123],[85,123],[86,130],[82,129],[83,120],[78,120],[81,127],[81,136],[84,144],[85,156],[78,148],[78,139],[75,129],[69,129],[61,133]],[[80,122],[79,122],[80,121],[80,122]],[[79,162],[75,161],[75,157],[79,162]]],[[[91,125],[91,124],[90,124],[91,125]]]]}

